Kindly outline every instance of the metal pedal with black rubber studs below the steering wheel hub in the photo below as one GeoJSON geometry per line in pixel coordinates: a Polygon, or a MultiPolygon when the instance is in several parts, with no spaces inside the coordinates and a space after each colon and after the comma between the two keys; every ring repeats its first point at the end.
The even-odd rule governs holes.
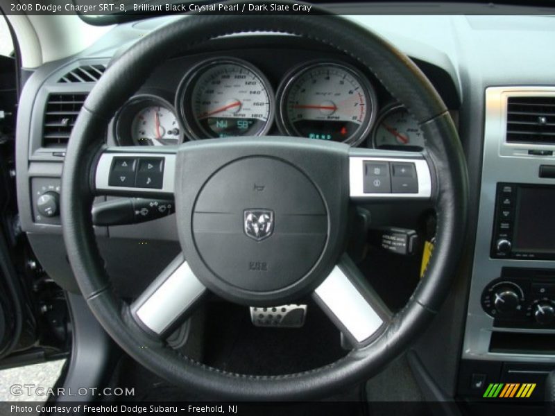
{"type": "Polygon", "coordinates": [[[300,328],[305,324],[306,315],[307,305],[250,307],[250,320],[255,327],[300,328]]]}

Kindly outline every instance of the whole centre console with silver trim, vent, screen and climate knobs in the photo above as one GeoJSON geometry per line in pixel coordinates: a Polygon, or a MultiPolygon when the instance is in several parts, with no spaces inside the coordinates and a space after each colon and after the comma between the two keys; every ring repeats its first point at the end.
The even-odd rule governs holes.
{"type": "MultiPolygon", "coordinates": [[[[555,87],[486,89],[484,159],[459,395],[555,368],[555,87]]],[[[484,399],[485,400],[485,399],[484,399]]]]}

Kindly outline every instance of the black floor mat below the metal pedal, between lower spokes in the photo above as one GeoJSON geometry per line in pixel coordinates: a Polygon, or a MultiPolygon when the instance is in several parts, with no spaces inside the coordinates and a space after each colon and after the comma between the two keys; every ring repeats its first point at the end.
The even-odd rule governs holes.
{"type": "Polygon", "coordinates": [[[314,302],[307,304],[307,320],[300,329],[255,327],[245,306],[210,305],[205,363],[231,372],[273,375],[336,361],[347,353],[339,330],[314,302]]]}

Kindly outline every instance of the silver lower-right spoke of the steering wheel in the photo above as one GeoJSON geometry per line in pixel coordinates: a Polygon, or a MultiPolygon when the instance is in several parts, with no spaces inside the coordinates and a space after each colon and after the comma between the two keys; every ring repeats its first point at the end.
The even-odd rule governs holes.
{"type": "Polygon", "coordinates": [[[371,343],[391,320],[391,311],[347,255],[313,296],[355,348],[371,343]]]}

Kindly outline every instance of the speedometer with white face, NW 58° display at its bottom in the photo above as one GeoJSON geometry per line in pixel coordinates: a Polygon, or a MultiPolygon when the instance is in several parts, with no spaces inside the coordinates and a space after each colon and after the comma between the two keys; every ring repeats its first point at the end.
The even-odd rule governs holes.
{"type": "Polygon", "coordinates": [[[177,104],[192,137],[256,136],[268,132],[273,92],[253,65],[225,58],[203,62],[185,76],[177,104]]]}

